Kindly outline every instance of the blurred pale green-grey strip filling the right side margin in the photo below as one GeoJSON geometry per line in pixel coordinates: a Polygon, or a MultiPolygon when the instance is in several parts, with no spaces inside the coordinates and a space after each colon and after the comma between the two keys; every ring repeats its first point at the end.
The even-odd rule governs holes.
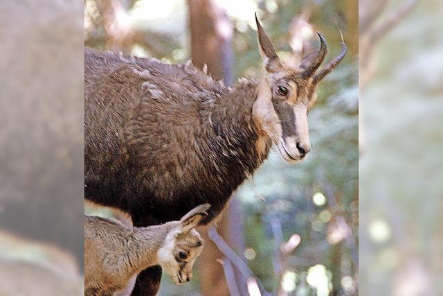
{"type": "Polygon", "coordinates": [[[362,295],[443,295],[442,14],[359,3],[362,295]]]}

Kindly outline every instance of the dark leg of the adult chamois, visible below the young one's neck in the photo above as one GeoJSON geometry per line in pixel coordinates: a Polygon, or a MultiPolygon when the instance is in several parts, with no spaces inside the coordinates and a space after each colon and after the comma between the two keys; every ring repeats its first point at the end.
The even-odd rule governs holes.
{"type": "Polygon", "coordinates": [[[159,292],[161,267],[152,266],[140,272],[131,296],[155,296],[159,292]]]}

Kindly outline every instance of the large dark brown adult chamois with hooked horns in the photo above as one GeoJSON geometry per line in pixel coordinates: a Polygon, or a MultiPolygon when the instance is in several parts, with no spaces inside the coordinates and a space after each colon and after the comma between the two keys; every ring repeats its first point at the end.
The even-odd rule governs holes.
{"type": "MultiPolygon", "coordinates": [[[[136,227],[178,220],[209,203],[205,223],[266,159],[271,143],[296,162],[310,150],[307,113],[323,69],[320,49],[291,68],[257,20],[264,76],[226,87],[186,64],[85,51],[85,198],[127,212],[136,227]]],[[[138,276],[133,295],[154,295],[161,268],[138,276]]]]}

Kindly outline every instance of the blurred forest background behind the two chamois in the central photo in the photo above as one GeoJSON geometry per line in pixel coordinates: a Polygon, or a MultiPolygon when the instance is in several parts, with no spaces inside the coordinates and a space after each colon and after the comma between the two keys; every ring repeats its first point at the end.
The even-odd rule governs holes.
{"type": "Polygon", "coordinates": [[[318,85],[309,157],[291,165],[272,152],[219,223],[217,232],[239,255],[234,261],[252,273],[233,267],[241,262],[226,259],[211,241],[215,233],[208,238],[201,229],[206,245],[191,283],[177,287],[165,276],[160,295],[356,295],[357,1],[86,0],[85,45],[167,63],[192,58],[233,84],[262,75],[255,12],[289,64],[318,46],[316,31],[328,42],[327,60],[341,49],[339,31],[349,51],[318,85]]]}

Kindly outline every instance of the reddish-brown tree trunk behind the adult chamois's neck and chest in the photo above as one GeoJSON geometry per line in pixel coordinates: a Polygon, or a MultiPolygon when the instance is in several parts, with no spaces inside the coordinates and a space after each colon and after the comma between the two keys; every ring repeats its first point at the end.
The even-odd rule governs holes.
{"type": "MultiPolygon", "coordinates": [[[[224,8],[214,0],[188,0],[190,14],[190,43],[192,62],[208,73],[223,79],[226,85],[233,85],[233,27],[224,8]]],[[[235,198],[226,207],[217,223],[219,234],[226,243],[242,255],[244,252],[243,220],[239,202],[235,198]]],[[[204,251],[200,257],[199,274],[203,295],[229,295],[224,270],[216,259],[224,255],[210,241],[207,227],[202,231],[205,239],[204,251]]],[[[237,286],[242,295],[246,293],[246,282],[234,271],[237,286]]]]}

